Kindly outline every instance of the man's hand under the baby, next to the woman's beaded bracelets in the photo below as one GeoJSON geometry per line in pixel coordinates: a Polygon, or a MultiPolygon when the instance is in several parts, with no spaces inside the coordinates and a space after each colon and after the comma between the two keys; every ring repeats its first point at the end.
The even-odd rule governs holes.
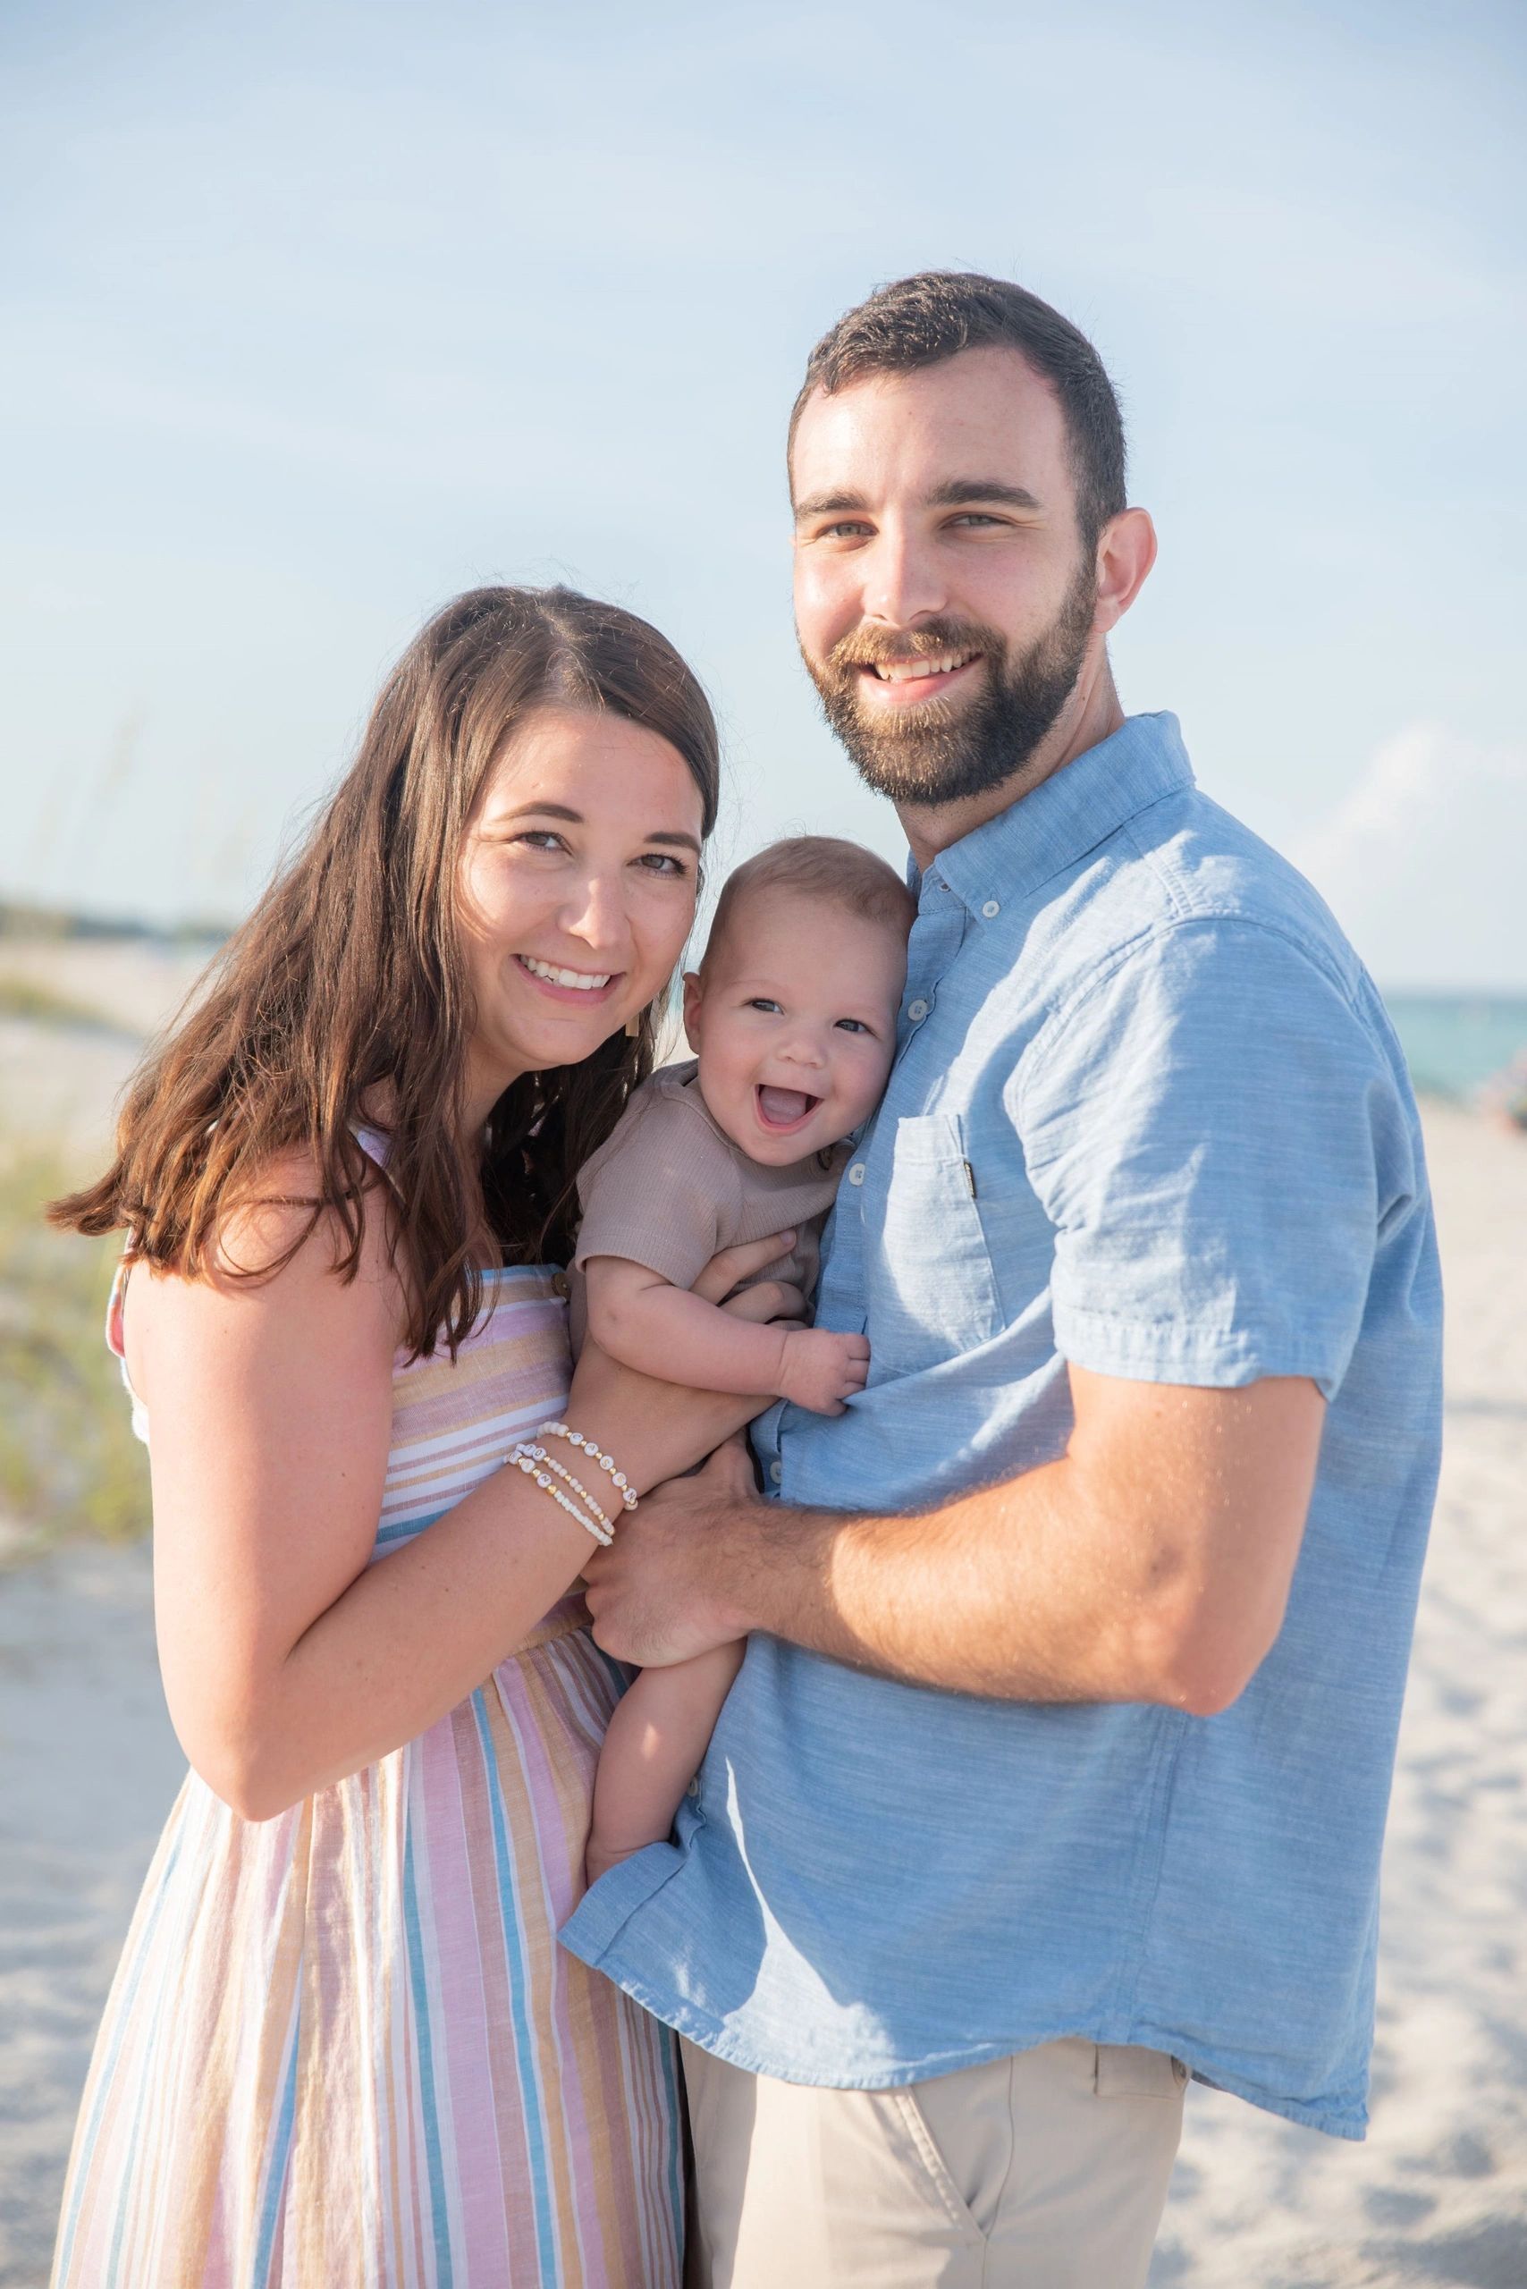
{"type": "Polygon", "coordinates": [[[726,1554],[728,1513],[762,1511],[753,1460],[742,1437],[719,1447],[689,1479],[668,1479],[641,1497],[584,1568],[593,1641],[618,1662],[666,1669],[746,1637],[726,1554]]]}

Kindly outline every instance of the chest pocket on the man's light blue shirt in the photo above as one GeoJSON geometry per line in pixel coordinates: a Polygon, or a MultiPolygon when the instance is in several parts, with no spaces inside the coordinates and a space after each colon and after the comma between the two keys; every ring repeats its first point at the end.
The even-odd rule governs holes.
{"type": "Polygon", "coordinates": [[[989,1344],[1003,1307],[975,1177],[955,1112],[920,1112],[877,1135],[884,1209],[865,1202],[870,1383],[918,1373],[989,1344]]]}

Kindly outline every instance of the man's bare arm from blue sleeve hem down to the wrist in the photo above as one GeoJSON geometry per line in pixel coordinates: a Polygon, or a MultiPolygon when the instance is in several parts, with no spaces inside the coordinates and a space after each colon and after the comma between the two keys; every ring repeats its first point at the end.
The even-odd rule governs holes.
{"type": "Polygon", "coordinates": [[[1282,1627],[1323,1401],[1071,1385],[1060,1460],[920,1518],[728,1513],[744,1625],[952,1692],[1227,1708],[1282,1627]]]}

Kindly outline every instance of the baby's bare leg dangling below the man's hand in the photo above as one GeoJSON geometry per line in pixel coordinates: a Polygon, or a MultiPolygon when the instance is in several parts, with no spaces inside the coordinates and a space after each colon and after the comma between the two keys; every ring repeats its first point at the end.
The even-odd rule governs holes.
{"type": "Polygon", "coordinates": [[[591,1884],[616,1861],[666,1838],[742,1669],[742,1653],[737,1639],[671,1669],[643,1669],[618,1703],[593,1779],[591,1884]]]}

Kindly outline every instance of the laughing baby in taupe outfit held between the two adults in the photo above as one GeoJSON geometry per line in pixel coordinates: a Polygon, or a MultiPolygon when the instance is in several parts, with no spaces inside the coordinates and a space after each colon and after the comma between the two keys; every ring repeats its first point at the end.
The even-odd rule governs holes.
{"type": "MultiPolygon", "coordinates": [[[[806,1298],[817,1236],[895,1051],[913,900],[856,842],[797,835],[726,881],[685,977],[694,1062],[652,1074],[579,1177],[581,1316],[614,1357],[668,1383],[774,1392],[840,1415],[870,1371],[863,1334],[749,1321],[689,1293],[721,1250],[790,1243],[758,1280],[806,1298]]],[[[588,1879],[673,1827],[742,1646],[643,1669],[609,1726],[588,1879]]]]}

